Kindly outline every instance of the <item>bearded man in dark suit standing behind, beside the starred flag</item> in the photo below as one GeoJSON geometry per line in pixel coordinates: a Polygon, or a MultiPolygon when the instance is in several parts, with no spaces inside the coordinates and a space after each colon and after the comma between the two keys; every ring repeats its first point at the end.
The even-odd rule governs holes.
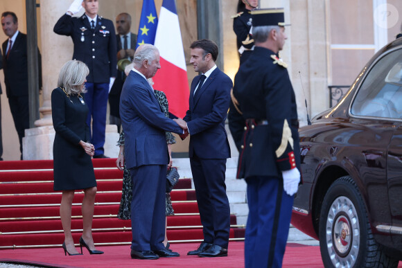
{"type": "Polygon", "coordinates": [[[114,80],[112,89],[109,93],[110,106],[110,124],[117,125],[120,132],[121,120],[119,114],[119,102],[121,89],[125,80],[124,66],[125,63],[130,64],[134,57],[135,48],[137,46],[137,35],[130,33],[131,16],[128,13],[120,13],[116,17],[116,42],[117,42],[117,61],[119,69],[117,71],[116,80],[114,80]],[[125,61],[126,60],[126,61],[125,61]]]}

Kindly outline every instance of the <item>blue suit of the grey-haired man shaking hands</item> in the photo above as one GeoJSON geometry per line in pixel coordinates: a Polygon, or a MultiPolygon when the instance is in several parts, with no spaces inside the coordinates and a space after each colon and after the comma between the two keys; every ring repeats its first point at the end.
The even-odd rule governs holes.
{"type": "Polygon", "coordinates": [[[130,71],[120,98],[125,132],[125,166],[133,180],[132,245],[135,251],[164,249],[166,168],[169,161],[165,132],[182,134],[166,118],[145,78],[130,71]]]}

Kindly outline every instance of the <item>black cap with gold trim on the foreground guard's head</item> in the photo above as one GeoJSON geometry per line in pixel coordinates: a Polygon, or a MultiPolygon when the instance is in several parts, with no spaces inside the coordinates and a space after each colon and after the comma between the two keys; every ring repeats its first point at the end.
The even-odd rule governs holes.
{"type": "Polygon", "coordinates": [[[265,8],[251,11],[252,26],[289,26],[285,24],[283,8],[265,8]]]}

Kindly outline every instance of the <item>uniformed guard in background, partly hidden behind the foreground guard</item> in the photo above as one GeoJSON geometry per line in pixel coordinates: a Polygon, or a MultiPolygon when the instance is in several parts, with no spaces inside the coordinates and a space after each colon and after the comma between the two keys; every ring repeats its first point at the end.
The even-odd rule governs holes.
{"type": "Polygon", "coordinates": [[[238,0],[237,14],[232,16],[233,30],[236,33],[238,53],[240,53],[240,64],[251,55],[254,48],[254,40],[250,33],[252,28],[252,17],[250,11],[257,8],[259,0],[238,0]]]}

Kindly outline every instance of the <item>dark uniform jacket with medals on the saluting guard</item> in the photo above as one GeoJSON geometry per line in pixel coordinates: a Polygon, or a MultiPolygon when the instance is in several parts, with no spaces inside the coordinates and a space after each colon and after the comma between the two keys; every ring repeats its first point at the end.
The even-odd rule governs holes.
{"type": "Polygon", "coordinates": [[[117,74],[116,34],[110,19],[96,19],[94,30],[84,14],[81,17],[62,15],[53,28],[58,35],[71,36],[73,60],[85,62],[89,68],[87,82],[109,83],[117,74]]]}

